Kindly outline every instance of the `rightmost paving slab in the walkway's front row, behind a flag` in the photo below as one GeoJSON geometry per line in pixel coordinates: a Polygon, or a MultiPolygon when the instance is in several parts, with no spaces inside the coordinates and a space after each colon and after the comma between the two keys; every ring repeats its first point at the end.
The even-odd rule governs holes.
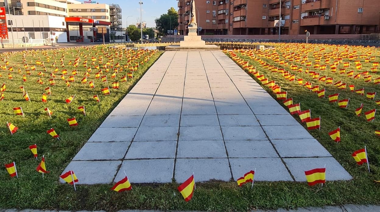
{"type": "Polygon", "coordinates": [[[326,181],[350,180],[351,175],[333,157],[304,157],[283,159],[296,181],[306,181],[305,171],[323,168],[326,164],[326,181]]]}

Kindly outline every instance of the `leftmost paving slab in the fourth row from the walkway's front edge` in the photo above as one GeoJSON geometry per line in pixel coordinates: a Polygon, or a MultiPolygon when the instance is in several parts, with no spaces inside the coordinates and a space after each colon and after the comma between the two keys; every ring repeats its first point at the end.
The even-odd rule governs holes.
{"type": "Polygon", "coordinates": [[[143,116],[108,116],[100,127],[139,127],[143,116]]]}

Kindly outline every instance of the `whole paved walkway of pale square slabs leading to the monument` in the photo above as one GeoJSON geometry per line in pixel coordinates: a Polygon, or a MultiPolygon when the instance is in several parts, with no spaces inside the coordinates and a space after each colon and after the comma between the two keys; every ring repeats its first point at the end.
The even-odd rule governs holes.
{"type": "Polygon", "coordinates": [[[105,119],[64,172],[79,184],[236,180],[306,181],[326,163],[345,169],[221,51],[165,52],[105,119]]]}

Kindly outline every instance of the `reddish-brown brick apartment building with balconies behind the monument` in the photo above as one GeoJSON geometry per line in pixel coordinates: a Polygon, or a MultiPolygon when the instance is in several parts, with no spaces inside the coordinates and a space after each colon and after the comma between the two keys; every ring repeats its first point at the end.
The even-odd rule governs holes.
{"type": "MultiPolygon", "coordinates": [[[[178,30],[187,35],[191,0],[178,0],[178,30]]],[[[201,35],[377,33],[380,0],[195,0],[201,35]],[[280,6],[281,4],[281,6],[280,6]],[[275,27],[275,24],[276,27],[275,27]]]]}

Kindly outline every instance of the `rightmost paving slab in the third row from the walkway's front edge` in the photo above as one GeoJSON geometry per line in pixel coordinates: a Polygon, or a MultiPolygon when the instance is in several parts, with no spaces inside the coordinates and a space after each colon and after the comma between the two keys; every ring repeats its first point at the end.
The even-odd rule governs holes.
{"type": "Polygon", "coordinates": [[[313,138],[300,124],[291,126],[263,126],[263,129],[270,140],[313,138]]]}

